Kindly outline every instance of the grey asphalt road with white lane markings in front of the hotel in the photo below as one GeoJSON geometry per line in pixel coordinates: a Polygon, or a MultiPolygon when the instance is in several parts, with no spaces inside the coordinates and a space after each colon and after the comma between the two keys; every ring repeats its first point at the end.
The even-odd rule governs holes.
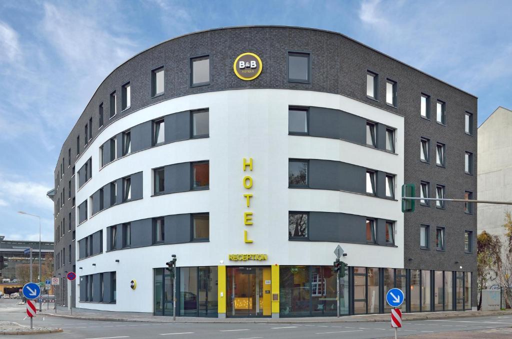
{"type": "MultiPolygon", "coordinates": [[[[0,320],[16,322],[28,326],[30,321],[25,318],[25,306],[0,301],[0,320]]],[[[389,322],[378,323],[319,323],[319,324],[168,324],[168,323],[130,323],[87,321],[66,319],[54,316],[37,316],[34,326],[60,327],[63,333],[32,335],[31,338],[62,338],[62,339],[310,339],[310,338],[387,338],[394,337],[394,329],[389,322]]],[[[465,331],[464,338],[494,338],[495,328],[512,327],[512,316],[471,317],[450,320],[425,320],[403,322],[398,336],[431,334],[434,337],[454,337],[453,333],[465,331]],[[478,330],[478,332],[471,332],[478,330]],[[482,330],[491,331],[484,335],[482,330]],[[435,335],[439,333],[439,335],[435,335]],[[443,335],[442,333],[445,333],[443,335]]],[[[510,335],[512,332],[508,332],[510,335]]],[[[422,336],[423,337],[423,336],[422,336]]],[[[428,336],[430,337],[430,335],[428,336]]]]}

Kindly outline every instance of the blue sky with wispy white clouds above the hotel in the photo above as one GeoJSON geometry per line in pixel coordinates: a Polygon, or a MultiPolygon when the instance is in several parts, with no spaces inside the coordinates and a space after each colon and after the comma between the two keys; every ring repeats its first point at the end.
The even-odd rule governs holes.
{"type": "Polygon", "coordinates": [[[0,235],[53,240],[46,192],[62,142],[114,68],[174,36],[290,25],[346,34],[475,94],[481,123],[512,108],[511,1],[2,1],[0,235]]]}

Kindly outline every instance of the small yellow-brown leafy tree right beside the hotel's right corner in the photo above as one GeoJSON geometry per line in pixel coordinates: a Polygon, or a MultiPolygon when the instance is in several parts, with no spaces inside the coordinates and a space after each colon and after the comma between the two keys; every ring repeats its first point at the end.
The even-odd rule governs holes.
{"type": "Polygon", "coordinates": [[[487,282],[497,277],[498,268],[501,265],[501,241],[498,236],[492,236],[482,231],[477,239],[477,290],[480,294],[478,309],[482,307],[483,289],[487,288],[487,282]]]}

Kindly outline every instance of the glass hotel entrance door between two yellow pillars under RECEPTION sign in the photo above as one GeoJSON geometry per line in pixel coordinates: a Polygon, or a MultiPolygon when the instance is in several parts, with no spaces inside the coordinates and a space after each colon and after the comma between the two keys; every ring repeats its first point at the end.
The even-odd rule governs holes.
{"type": "Polygon", "coordinates": [[[270,267],[227,267],[227,316],[270,316],[270,267]]]}

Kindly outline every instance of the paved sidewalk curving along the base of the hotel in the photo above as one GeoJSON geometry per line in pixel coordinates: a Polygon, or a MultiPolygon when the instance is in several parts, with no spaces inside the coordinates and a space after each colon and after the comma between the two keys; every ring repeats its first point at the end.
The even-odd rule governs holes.
{"type": "MultiPolygon", "coordinates": [[[[68,310],[58,309],[57,313],[53,310],[42,310],[39,314],[60,316],[72,319],[82,320],[102,320],[116,322],[153,322],[153,323],[346,323],[346,322],[387,322],[390,321],[389,314],[365,314],[365,315],[347,315],[339,318],[333,316],[327,317],[300,317],[300,318],[204,318],[177,316],[173,321],[172,316],[152,315],[151,313],[136,312],[112,312],[73,309],[73,315],[68,310]]],[[[428,312],[428,313],[402,313],[403,321],[427,320],[427,319],[452,319],[472,316],[493,316],[493,315],[512,315],[512,310],[506,311],[452,311],[452,312],[428,312]]]]}

